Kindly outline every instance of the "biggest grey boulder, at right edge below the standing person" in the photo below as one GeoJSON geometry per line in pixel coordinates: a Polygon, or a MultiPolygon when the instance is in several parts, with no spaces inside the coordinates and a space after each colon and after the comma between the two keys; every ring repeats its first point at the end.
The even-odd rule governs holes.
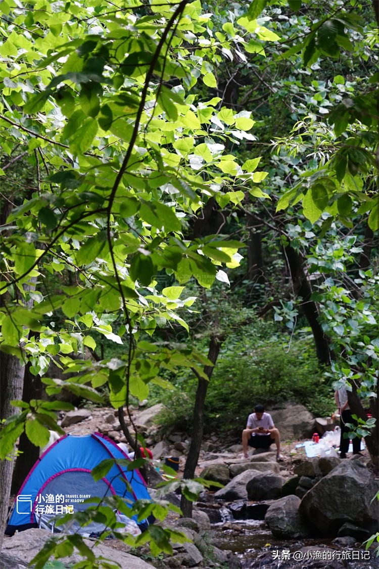
{"type": "Polygon", "coordinates": [[[378,523],[371,503],[379,483],[359,460],[344,460],[303,497],[299,511],[324,535],[336,535],[345,522],[372,527],[378,523]]]}

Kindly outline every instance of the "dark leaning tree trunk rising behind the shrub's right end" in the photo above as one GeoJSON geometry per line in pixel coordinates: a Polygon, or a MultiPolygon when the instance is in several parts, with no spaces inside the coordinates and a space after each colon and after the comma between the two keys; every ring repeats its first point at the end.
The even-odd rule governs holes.
{"type": "Polygon", "coordinates": [[[284,253],[291,273],[294,292],[303,299],[302,311],[313,332],[318,360],[321,364],[330,364],[329,341],[318,321],[319,312],[316,303],[311,300],[312,289],[303,268],[305,260],[290,245],[284,248],[284,253]]]}

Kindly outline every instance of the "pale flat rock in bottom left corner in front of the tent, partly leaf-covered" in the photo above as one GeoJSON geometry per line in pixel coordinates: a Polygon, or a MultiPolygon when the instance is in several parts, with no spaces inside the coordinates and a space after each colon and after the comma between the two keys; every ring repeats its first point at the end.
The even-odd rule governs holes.
{"type": "MultiPolygon", "coordinates": [[[[4,539],[1,559],[3,559],[3,555],[16,555],[22,562],[30,563],[50,537],[51,533],[47,530],[30,529],[20,531],[19,533],[14,534],[13,537],[4,539]]],[[[127,567],[128,569],[154,569],[151,564],[145,562],[143,559],[140,559],[135,555],[130,555],[124,551],[108,547],[104,543],[100,543],[98,546],[94,547],[93,541],[84,539],[84,542],[94,551],[97,558],[103,556],[106,559],[118,562],[120,566],[127,567]]],[[[60,559],[60,561],[65,565],[78,563],[82,560],[83,558],[77,553],[60,559]]],[[[16,568],[17,566],[12,569],[16,568]]]]}

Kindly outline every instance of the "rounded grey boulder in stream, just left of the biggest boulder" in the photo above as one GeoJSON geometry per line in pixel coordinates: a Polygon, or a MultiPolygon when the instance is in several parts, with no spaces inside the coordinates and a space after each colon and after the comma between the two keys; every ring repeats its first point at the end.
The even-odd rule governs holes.
{"type": "Polygon", "coordinates": [[[285,496],[267,510],[265,522],[275,537],[297,539],[311,537],[309,523],[299,514],[300,498],[285,496]]]}

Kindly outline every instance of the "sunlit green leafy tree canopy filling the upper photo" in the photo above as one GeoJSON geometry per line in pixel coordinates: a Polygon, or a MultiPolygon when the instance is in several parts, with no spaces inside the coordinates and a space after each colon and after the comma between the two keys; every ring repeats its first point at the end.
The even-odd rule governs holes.
{"type": "MultiPolygon", "coordinates": [[[[202,340],[269,318],[289,344],[318,327],[330,385],[355,382],[369,405],[375,7],[3,0],[2,361],[28,365],[50,397],[107,391],[120,409],[182,368],[207,380],[202,340]],[[52,362],[67,378],[49,377],[52,362]]],[[[60,403],[13,405],[2,460],[24,430],[36,446],[60,431],[60,403]]]]}

